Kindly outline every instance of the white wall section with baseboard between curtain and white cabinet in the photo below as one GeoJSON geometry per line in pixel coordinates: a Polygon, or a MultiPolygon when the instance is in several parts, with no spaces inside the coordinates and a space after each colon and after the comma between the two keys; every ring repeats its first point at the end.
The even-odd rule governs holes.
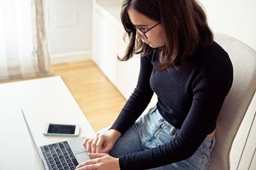
{"type": "Polygon", "coordinates": [[[47,0],[52,64],[84,60],[92,53],[92,0],[47,0]]]}

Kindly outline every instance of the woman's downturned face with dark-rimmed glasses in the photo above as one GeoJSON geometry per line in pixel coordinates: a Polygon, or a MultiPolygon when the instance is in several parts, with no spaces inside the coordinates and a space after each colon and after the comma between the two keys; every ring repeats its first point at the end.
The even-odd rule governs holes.
{"type": "MultiPolygon", "coordinates": [[[[128,9],[128,15],[130,17],[132,24],[140,30],[147,31],[148,29],[150,29],[151,27],[153,27],[158,23],[157,21],[151,20],[150,18],[146,17],[142,13],[134,10],[134,8],[128,9]]],[[[152,48],[157,48],[165,45],[164,40],[166,36],[164,34],[164,28],[161,25],[161,23],[156,25],[156,27],[150,29],[148,32],[145,33],[148,39],[144,38],[141,35],[141,33],[138,32],[138,30],[136,31],[136,39],[141,39],[143,43],[147,43],[152,48]]]]}

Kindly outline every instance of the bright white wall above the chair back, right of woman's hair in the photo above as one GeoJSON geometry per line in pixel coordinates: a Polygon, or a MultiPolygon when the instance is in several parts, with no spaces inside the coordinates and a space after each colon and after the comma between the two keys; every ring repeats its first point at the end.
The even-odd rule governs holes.
{"type": "Polygon", "coordinates": [[[256,50],[255,0],[199,0],[214,32],[233,36],[256,50]]]}

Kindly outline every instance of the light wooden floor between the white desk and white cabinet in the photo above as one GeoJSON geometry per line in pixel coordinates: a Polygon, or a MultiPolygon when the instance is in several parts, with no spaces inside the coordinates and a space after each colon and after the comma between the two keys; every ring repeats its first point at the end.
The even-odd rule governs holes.
{"type": "Polygon", "coordinates": [[[113,124],[124,97],[92,60],[52,66],[67,85],[95,131],[113,124]]]}

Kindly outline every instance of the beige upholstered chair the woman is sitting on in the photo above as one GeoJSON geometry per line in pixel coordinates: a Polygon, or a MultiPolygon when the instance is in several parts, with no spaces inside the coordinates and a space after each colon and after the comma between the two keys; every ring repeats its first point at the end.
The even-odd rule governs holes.
{"type": "MultiPolygon", "coordinates": [[[[214,41],[230,56],[234,81],[216,124],[216,143],[207,169],[230,169],[230,150],[256,90],[256,52],[250,46],[221,33],[214,41]]],[[[239,156],[239,155],[237,155],[239,156]]]]}

